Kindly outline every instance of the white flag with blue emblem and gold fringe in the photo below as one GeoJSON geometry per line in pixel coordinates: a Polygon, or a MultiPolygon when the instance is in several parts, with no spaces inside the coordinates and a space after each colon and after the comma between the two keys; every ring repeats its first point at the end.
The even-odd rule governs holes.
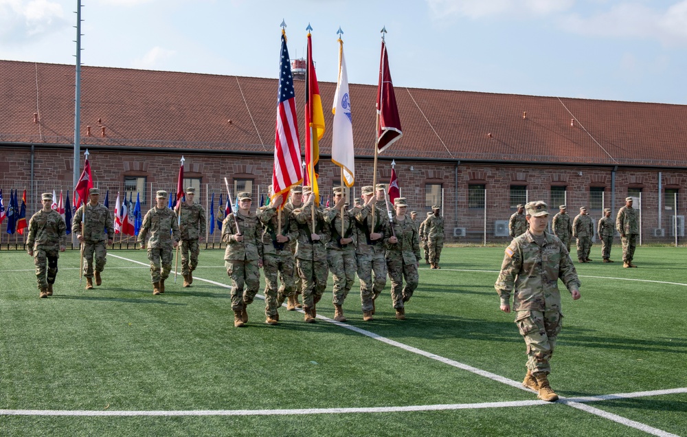
{"type": "Polygon", "coordinates": [[[346,59],[343,58],[343,41],[339,39],[339,81],[334,96],[334,125],[332,128],[332,161],[341,167],[343,183],[352,187],[355,181],[353,157],[353,124],[348,96],[348,75],[346,59]]]}

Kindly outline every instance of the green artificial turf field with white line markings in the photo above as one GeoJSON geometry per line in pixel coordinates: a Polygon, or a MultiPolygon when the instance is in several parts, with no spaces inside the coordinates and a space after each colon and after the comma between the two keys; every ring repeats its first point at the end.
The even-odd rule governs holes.
{"type": "MultiPolygon", "coordinates": [[[[245,328],[221,250],[201,251],[191,288],[170,278],[159,296],[144,251],[110,251],[92,291],[67,251],[47,299],[32,258],[1,251],[0,435],[687,436],[687,249],[638,247],[638,269],[599,250],[576,263],[581,300],[561,284],[553,404],[519,386],[525,346],[493,288],[503,248],[420,265],[405,321],[387,281],[363,322],[356,281],[346,324],[284,307],[269,326],[256,299],[245,328]]],[[[333,317],[331,287],[317,310],[333,317]]]]}

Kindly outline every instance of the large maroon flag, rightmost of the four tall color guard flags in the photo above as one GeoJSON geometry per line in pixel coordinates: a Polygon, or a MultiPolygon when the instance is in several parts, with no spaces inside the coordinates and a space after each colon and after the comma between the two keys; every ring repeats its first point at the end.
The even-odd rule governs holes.
{"type": "Polygon", "coordinates": [[[377,151],[382,153],[397,139],[403,136],[401,132],[401,118],[398,117],[394,84],[389,71],[389,58],[386,45],[382,40],[382,54],[379,63],[379,86],[377,87],[377,114],[379,115],[379,131],[377,131],[377,151]]]}

